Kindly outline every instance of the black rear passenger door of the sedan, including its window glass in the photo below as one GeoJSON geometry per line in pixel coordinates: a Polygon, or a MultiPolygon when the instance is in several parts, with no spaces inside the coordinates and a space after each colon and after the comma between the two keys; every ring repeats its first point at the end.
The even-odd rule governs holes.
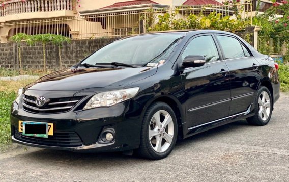
{"type": "Polygon", "coordinates": [[[229,68],[231,96],[229,115],[244,112],[253,103],[261,79],[261,65],[248,48],[234,36],[215,34],[229,68]]]}

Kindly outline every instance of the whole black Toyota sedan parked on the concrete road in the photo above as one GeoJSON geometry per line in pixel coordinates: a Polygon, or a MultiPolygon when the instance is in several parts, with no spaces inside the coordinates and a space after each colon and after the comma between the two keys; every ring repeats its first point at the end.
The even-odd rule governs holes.
{"type": "Polygon", "coordinates": [[[266,125],[279,98],[277,70],[272,58],[228,32],[126,37],[19,89],[12,139],[162,159],[177,138],[240,119],[266,125]]]}

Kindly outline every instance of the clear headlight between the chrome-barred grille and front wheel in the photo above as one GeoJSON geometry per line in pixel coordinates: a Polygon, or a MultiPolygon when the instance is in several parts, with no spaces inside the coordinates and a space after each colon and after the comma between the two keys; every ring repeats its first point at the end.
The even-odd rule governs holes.
{"type": "Polygon", "coordinates": [[[102,92],[95,94],[88,103],[84,106],[83,110],[97,108],[97,107],[109,107],[128,100],[134,97],[139,90],[139,87],[114,90],[109,92],[102,92]]]}

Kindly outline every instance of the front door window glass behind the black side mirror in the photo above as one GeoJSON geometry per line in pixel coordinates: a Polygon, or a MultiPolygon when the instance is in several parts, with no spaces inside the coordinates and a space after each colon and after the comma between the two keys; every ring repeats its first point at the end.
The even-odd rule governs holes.
{"type": "Polygon", "coordinates": [[[200,36],[191,40],[182,54],[182,59],[184,60],[189,55],[202,55],[205,57],[206,62],[220,59],[216,44],[211,35],[200,36]]]}

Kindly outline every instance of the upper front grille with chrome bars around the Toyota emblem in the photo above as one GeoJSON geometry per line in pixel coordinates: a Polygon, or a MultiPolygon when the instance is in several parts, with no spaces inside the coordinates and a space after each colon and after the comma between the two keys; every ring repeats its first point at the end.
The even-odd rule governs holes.
{"type": "Polygon", "coordinates": [[[64,98],[51,98],[45,103],[43,107],[36,106],[36,97],[23,95],[22,106],[23,109],[32,113],[40,114],[53,114],[62,113],[71,110],[76,103],[83,98],[78,97],[64,97],[64,98]]]}

